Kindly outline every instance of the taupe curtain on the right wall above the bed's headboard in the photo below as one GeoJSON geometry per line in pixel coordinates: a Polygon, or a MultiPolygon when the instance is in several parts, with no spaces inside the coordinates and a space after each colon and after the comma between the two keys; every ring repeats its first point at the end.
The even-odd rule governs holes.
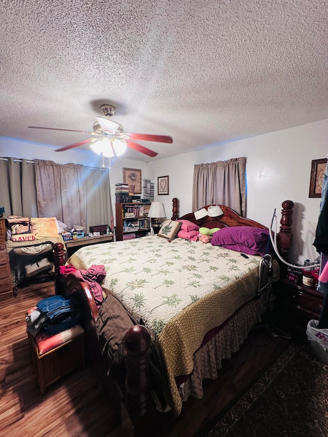
{"type": "Polygon", "coordinates": [[[196,164],[193,179],[193,211],[211,203],[229,206],[245,216],[246,158],[196,164]]]}

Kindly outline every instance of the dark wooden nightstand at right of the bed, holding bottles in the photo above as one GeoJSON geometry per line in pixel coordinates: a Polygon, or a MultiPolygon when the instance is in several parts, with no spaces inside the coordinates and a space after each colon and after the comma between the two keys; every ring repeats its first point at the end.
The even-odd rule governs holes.
{"type": "Polygon", "coordinates": [[[295,284],[283,279],[274,286],[276,296],[275,310],[279,325],[296,340],[306,339],[306,326],[309,320],[318,320],[322,307],[323,294],[316,286],[295,284]]]}

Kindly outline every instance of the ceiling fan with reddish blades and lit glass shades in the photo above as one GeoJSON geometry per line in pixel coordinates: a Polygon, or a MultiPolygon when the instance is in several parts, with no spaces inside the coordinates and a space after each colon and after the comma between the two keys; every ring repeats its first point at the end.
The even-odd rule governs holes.
{"type": "Polygon", "coordinates": [[[83,144],[90,144],[92,150],[99,155],[103,153],[103,156],[112,158],[113,156],[122,155],[127,147],[136,150],[137,152],[144,153],[150,157],[158,155],[158,153],[153,150],[144,147],[131,140],[141,140],[141,141],[154,141],[154,142],[165,142],[173,143],[173,139],[166,135],[151,135],[151,134],[136,134],[136,133],[126,133],[123,130],[121,124],[116,121],[110,120],[110,117],[115,112],[115,107],[113,105],[101,105],[101,112],[107,117],[96,117],[93,123],[93,132],[78,131],[72,129],[58,129],[58,128],[42,128],[37,126],[29,126],[33,129],[49,129],[53,131],[66,131],[66,132],[83,132],[87,135],[95,136],[95,138],[86,139],[83,141],[75,142],[74,144],[66,145],[55,152],[64,152],[65,150],[73,149],[83,144]]]}

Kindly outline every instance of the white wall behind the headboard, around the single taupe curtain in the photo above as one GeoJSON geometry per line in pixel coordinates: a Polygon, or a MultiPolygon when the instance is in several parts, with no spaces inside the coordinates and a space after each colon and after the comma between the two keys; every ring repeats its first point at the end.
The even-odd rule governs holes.
{"type": "Polygon", "coordinates": [[[202,150],[148,163],[149,178],[169,175],[169,196],[155,196],[165,206],[167,217],[172,198],[180,200],[180,215],[191,211],[194,164],[247,157],[247,217],[269,226],[277,209],[278,230],[281,202],[295,203],[291,260],[303,263],[318,254],[313,246],[320,199],[309,198],[311,161],[326,158],[328,120],[291,129],[213,145],[202,150]]]}

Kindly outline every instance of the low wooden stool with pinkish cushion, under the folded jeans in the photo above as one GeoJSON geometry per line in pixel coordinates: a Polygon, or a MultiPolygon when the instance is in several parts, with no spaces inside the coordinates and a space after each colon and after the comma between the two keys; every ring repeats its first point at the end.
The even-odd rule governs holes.
{"type": "Polygon", "coordinates": [[[84,329],[80,325],[48,335],[39,332],[33,337],[28,332],[42,394],[53,382],[79,366],[85,366],[84,329]]]}

